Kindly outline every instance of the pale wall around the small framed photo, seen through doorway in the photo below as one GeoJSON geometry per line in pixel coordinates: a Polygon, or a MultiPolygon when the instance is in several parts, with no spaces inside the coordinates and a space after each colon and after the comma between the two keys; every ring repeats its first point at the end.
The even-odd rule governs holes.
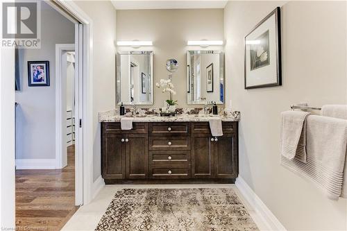
{"type": "Polygon", "coordinates": [[[19,52],[22,90],[16,92],[17,159],[56,158],[56,44],[74,43],[74,24],[41,3],[41,49],[19,52]],[[49,61],[49,87],[28,87],[27,61],[49,61]]]}

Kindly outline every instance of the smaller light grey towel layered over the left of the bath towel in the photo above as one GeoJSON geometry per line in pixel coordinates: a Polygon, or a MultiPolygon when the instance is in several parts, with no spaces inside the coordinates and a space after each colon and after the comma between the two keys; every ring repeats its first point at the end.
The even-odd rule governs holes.
{"type": "Polygon", "coordinates": [[[296,157],[306,163],[306,119],[309,114],[302,111],[282,112],[281,154],[289,160],[296,157]]]}

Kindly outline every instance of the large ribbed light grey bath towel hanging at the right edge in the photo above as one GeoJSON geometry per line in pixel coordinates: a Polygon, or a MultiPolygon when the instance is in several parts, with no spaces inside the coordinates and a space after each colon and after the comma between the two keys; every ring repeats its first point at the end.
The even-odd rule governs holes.
{"type": "Polygon", "coordinates": [[[282,156],[282,165],[312,180],[330,199],[346,197],[347,120],[307,117],[307,163],[282,156]],[[344,172],[346,177],[344,179],[344,172]]]}

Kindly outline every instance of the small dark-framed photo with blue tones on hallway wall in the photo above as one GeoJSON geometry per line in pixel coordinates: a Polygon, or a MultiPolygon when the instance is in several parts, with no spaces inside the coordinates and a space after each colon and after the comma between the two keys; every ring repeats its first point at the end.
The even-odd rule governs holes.
{"type": "Polygon", "coordinates": [[[49,61],[28,61],[28,85],[49,86],[49,61]]]}

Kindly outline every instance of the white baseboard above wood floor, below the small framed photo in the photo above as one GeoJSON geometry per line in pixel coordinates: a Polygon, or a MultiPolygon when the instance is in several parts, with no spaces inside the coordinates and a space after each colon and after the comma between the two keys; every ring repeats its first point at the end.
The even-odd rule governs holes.
{"type": "Polygon", "coordinates": [[[56,159],[17,159],[16,169],[56,169],[56,159]]]}

